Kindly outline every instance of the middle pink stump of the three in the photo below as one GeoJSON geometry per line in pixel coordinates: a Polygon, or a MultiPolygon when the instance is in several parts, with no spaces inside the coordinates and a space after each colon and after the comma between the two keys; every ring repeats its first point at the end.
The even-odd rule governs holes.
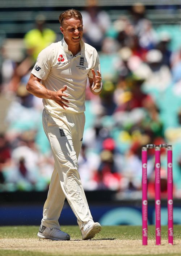
{"type": "Polygon", "coordinates": [[[160,146],[155,147],[155,236],[161,244],[161,197],[160,197],[160,146]]]}

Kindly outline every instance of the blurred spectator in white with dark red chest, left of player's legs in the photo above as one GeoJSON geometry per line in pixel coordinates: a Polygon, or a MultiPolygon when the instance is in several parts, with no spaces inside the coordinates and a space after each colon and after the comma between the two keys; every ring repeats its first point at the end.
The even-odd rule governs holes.
{"type": "Polygon", "coordinates": [[[36,148],[34,138],[33,131],[22,133],[17,147],[12,150],[13,166],[7,173],[7,182],[14,183],[20,190],[36,189],[40,178],[38,166],[42,156],[36,148]]]}

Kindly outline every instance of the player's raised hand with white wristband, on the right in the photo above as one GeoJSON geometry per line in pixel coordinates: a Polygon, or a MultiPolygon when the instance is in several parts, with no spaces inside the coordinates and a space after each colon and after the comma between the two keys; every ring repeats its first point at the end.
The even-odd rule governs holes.
{"type": "Polygon", "coordinates": [[[100,72],[97,70],[97,75],[94,69],[92,69],[93,78],[89,77],[90,91],[94,95],[99,95],[102,91],[102,77],[100,72]]]}

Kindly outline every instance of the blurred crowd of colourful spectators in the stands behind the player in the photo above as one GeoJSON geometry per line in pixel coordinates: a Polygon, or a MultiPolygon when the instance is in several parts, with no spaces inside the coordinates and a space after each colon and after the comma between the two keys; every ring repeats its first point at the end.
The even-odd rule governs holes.
{"type": "MultiPolygon", "coordinates": [[[[154,28],[146,8],[111,21],[94,1],[83,15],[84,41],[99,52],[104,89],[86,91],[86,125],[78,160],[85,190],[115,190],[117,198],[140,198],[141,149],[173,146],[174,197],[181,198],[181,45],[173,33],[154,28]]],[[[42,15],[24,36],[19,62],[0,61],[0,191],[47,190],[54,160],[42,128],[42,100],[26,91],[39,51],[61,40],[42,15]]],[[[173,26],[174,29],[174,26],[173,26]]],[[[181,31],[177,31],[181,33],[181,31]]],[[[154,150],[148,151],[148,195],[154,197],[154,150]]],[[[161,149],[161,193],[167,197],[167,151],[161,149]]]]}

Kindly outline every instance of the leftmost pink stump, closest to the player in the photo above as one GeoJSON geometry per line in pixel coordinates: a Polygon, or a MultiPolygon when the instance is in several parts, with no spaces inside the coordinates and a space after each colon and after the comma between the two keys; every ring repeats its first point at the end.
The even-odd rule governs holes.
{"type": "Polygon", "coordinates": [[[142,147],[142,244],[148,244],[147,147],[142,147]]]}

